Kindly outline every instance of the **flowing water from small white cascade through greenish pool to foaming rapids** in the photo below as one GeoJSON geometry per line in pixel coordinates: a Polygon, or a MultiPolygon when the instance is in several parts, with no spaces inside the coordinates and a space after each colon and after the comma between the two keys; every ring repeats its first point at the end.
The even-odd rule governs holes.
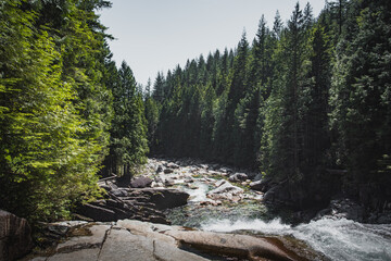
{"type": "Polygon", "coordinates": [[[324,217],[292,226],[275,219],[267,207],[254,199],[201,207],[200,201],[210,200],[206,192],[211,186],[202,182],[194,185],[198,189],[182,188],[190,194],[189,204],[168,212],[173,224],[213,232],[294,237],[330,260],[391,261],[391,224],[324,217]]]}

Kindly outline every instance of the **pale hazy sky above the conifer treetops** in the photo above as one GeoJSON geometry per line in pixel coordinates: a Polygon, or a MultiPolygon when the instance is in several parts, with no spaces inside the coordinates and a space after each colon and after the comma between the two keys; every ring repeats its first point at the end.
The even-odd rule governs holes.
{"type": "MultiPolygon", "coordinates": [[[[116,39],[110,41],[117,65],[125,60],[136,80],[152,83],[188,59],[205,58],[216,49],[235,48],[245,28],[252,42],[261,15],[272,27],[278,10],[283,22],[290,18],[297,0],[111,0],[100,21],[116,39]]],[[[306,2],[317,16],[325,0],[306,2]]]]}

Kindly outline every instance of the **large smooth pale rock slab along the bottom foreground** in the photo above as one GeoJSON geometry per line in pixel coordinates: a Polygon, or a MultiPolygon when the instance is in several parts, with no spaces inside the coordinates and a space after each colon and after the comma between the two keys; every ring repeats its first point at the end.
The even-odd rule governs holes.
{"type": "Polygon", "coordinates": [[[205,261],[222,257],[254,261],[306,260],[277,238],[189,231],[134,220],[80,225],[71,231],[50,257],[30,260],[205,261]],[[198,254],[202,252],[210,259],[198,254]]]}

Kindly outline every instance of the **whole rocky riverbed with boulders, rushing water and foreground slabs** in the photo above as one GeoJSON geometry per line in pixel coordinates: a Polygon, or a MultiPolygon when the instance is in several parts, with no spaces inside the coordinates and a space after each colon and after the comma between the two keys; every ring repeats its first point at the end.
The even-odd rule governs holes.
{"type": "Polygon", "coordinates": [[[258,173],[150,159],[128,184],[99,185],[106,197],[79,208],[84,221],[47,224],[61,243],[25,260],[391,260],[391,225],[331,204],[332,215],[289,225],[292,212],[264,203],[274,185],[258,173]]]}

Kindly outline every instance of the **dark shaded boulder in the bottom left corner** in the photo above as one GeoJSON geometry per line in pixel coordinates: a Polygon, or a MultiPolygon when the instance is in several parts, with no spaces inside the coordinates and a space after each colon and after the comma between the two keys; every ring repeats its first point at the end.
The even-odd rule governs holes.
{"type": "Polygon", "coordinates": [[[27,221],[0,210],[0,260],[21,258],[31,248],[31,229],[27,221]]]}

